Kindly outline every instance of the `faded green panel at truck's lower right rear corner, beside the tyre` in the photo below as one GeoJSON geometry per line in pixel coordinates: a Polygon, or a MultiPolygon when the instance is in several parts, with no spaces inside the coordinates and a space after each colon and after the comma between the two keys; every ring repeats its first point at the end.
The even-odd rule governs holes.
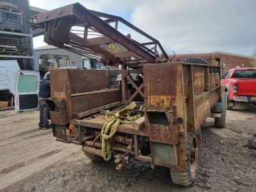
{"type": "Polygon", "coordinates": [[[177,165],[177,154],[173,145],[151,143],[153,163],[177,165]]]}

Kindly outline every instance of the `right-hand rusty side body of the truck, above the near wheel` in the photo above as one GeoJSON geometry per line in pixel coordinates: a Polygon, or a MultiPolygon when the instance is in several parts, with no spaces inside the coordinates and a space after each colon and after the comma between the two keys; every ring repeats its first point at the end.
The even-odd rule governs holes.
{"type": "MultiPolygon", "coordinates": [[[[166,63],[144,66],[145,125],[149,129],[152,148],[159,146],[158,143],[172,145],[171,151],[175,151],[173,156],[177,156],[179,168],[186,168],[188,132],[196,131],[211,115],[212,106],[221,100],[220,75],[220,67],[209,65],[166,63]],[[215,77],[214,81],[210,82],[209,77],[215,77]],[[172,120],[162,110],[172,114],[172,120]],[[173,140],[175,136],[177,141],[173,140]]],[[[152,150],[153,163],[159,158],[154,156],[158,155],[152,150]]]]}

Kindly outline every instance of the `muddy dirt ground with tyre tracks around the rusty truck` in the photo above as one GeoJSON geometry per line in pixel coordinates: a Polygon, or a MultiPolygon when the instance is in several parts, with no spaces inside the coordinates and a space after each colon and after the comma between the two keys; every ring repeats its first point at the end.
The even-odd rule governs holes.
{"type": "Polygon", "coordinates": [[[256,150],[244,148],[256,132],[256,112],[227,111],[227,127],[202,125],[202,163],[191,188],[172,184],[168,168],[132,161],[93,163],[81,147],[37,128],[38,111],[0,111],[0,191],[256,191],[256,150]]]}

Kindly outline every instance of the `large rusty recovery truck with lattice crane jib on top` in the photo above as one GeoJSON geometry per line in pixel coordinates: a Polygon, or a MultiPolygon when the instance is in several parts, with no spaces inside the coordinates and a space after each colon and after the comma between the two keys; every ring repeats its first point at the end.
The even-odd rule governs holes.
{"type": "Polygon", "coordinates": [[[170,168],[175,184],[193,184],[203,156],[200,125],[212,117],[216,127],[225,127],[220,64],[198,58],[173,61],[158,40],[127,20],[79,3],[40,13],[36,24],[45,29],[47,44],[106,66],[120,66],[51,70],[47,104],[56,141],[81,145],[93,160],[104,157],[103,145],[108,144],[117,169],[138,159],[152,168],[170,168]],[[120,25],[129,33],[122,33],[120,25]],[[143,38],[135,40],[132,32],[143,38]],[[128,115],[140,113],[139,118],[129,123],[116,120],[134,103],[140,108],[128,115]],[[108,129],[104,133],[102,127],[106,130],[111,111],[111,119],[118,123],[108,127],[111,138],[106,138],[108,129]]]}

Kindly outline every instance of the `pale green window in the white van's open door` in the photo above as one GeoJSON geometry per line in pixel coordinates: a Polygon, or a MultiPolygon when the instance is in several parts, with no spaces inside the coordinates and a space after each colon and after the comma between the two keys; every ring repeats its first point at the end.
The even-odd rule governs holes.
{"type": "Polygon", "coordinates": [[[36,76],[21,75],[18,81],[19,92],[36,92],[36,76]]]}

